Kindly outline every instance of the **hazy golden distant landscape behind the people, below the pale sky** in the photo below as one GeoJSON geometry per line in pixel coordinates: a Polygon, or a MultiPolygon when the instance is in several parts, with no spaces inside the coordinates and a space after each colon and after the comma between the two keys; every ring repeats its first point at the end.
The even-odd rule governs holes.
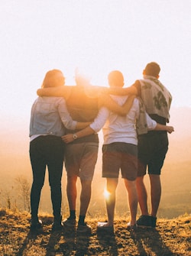
{"type": "MultiPolygon", "coordinates": [[[[21,191],[21,182],[31,187],[31,164],[28,156],[28,125],[29,117],[15,118],[12,125],[7,125],[8,117],[4,117],[0,134],[0,207],[28,210],[28,203],[24,206],[24,193],[21,191]],[[27,120],[27,121],[26,121],[27,120]],[[20,181],[19,181],[20,180],[20,181]]],[[[172,108],[170,125],[175,132],[169,134],[170,147],[163,166],[161,180],[163,184],[162,199],[158,212],[159,218],[175,218],[185,213],[191,213],[191,109],[172,108]]],[[[100,133],[100,141],[102,134],[100,133]]],[[[106,216],[103,190],[105,180],[102,179],[102,154],[99,147],[99,160],[95,168],[95,177],[92,183],[92,200],[88,215],[106,216]]],[[[147,180],[147,177],[146,177],[147,180]]],[[[147,186],[149,183],[147,180],[147,186]]],[[[26,188],[25,188],[26,189],[26,188]]],[[[80,189],[80,185],[79,185],[80,189]]],[[[117,192],[117,215],[128,215],[128,201],[124,184],[120,179],[117,192]]],[[[50,188],[46,177],[40,201],[40,212],[52,213],[50,203],[50,188]]],[[[66,173],[63,170],[63,215],[68,215],[66,201],[66,173]]]]}

